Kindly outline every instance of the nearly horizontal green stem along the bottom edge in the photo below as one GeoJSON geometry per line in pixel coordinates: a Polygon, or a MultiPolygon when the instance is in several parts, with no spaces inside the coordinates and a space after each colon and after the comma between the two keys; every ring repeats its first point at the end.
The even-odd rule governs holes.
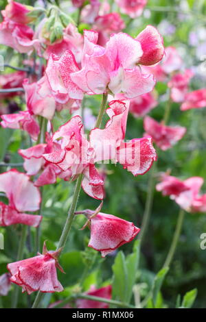
{"type": "Polygon", "coordinates": [[[135,306],[132,306],[130,304],[126,304],[120,301],[115,301],[113,299],[105,299],[104,297],[97,297],[93,295],[87,295],[87,294],[78,294],[76,296],[67,297],[67,299],[61,301],[61,303],[57,304],[53,308],[62,308],[66,304],[68,304],[71,299],[89,299],[90,301],[98,301],[103,303],[108,303],[112,306],[118,306],[120,308],[135,308],[135,306]]]}

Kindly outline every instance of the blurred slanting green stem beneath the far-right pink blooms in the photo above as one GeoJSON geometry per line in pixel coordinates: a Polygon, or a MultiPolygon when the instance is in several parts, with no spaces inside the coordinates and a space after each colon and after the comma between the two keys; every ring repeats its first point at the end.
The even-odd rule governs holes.
{"type": "Polygon", "coordinates": [[[170,264],[172,262],[172,258],[173,258],[174,253],[175,253],[176,245],[177,245],[177,243],[179,241],[179,236],[181,234],[181,230],[182,230],[182,227],[183,227],[184,216],[185,216],[185,211],[183,209],[181,209],[180,212],[179,212],[178,219],[177,219],[176,229],[175,229],[174,236],[173,236],[173,239],[172,239],[172,244],[170,246],[170,251],[169,251],[168,256],[167,256],[167,258],[165,260],[165,263],[163,264],[163,268],[164,267],[170,267],[170,264]]]}

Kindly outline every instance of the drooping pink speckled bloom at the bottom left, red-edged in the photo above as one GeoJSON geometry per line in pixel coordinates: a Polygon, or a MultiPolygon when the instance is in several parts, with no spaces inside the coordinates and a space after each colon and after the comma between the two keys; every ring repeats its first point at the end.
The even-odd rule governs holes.
{"type": "Polygon", "coordinates": [[[44,245],[43,255],[38,253],[38,256],[8,264],[12,275],[10,281],[21,286],[23,293],[29,295],[37,290],[43,293],[62,292],[56,273],[56,267],[62,271],[58,255],[59,251],[47,251],[44,245]]]}

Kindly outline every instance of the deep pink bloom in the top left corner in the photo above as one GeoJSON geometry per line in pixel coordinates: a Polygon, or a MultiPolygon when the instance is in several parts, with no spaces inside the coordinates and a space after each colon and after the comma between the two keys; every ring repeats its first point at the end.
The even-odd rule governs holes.
{"type": "Polygon", "coordinates": [[[34,20],[31,16],[27,16],[31,9],[33,8],[27,5],[8,0],[8,5],[6,5],[5,10],[1,11],[1,14],[4,18],[8,18],[15,23],[27,25],[34,20]]]}

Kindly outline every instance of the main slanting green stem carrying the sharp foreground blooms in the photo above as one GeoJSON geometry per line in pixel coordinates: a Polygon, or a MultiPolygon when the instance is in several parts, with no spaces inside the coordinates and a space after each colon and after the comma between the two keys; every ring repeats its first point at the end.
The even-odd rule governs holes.
{"type": "MultiPolygon", "coordinates": [[[[98,119],[96,121],[95,127],[99,127],[102,123],[102,117],[104,115],[104,111],[106,108],[106,103],[107,103],[107,97],[108,97],[108,93],[106,92],[106,94],[102,95],[102,104],[100,106],[100,112],[98,114],[98,119]]],[[[73,193],[73,199],[71,202],[71,206],[69,208],[69,213],[67,216],[67,221],[65,223],[65,227],[62,230],[62,234],[60,236],[60,240],[58,242],[58,247],[57,249],[64,249],[65,247],[65,243],[67,241],[67,238],[69,236],[69,232],[71,230],[71,224],[73,222],[73,217],[74,217],[74,212],[76,211],[76,206],[78,203],[78,197],[80,195],[80,190],[81,190],[81,184],[82,184],[82,179],[83,179],[83,175],[82,173],[79,175],[77,182],[76,182],[76,187],[73,193]]],[[[32,306],[32,308],[38,308],[41,299],[43,297],[43,293],[41,293],[40,291],[38,291],[37,295],[36,295],[36,299],[34,300],[34,304],[32,306]]]]}

